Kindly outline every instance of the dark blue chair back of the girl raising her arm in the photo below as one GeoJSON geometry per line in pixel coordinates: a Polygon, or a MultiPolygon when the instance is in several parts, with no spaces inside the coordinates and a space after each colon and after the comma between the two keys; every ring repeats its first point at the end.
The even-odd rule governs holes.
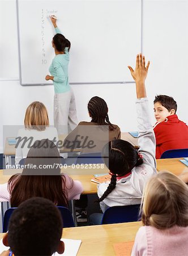
{"type": "Polygon", "coordinates": [[[101,224],[138,221],[139,210],[140,204],[110,207],[105,210],[101,224]]]}

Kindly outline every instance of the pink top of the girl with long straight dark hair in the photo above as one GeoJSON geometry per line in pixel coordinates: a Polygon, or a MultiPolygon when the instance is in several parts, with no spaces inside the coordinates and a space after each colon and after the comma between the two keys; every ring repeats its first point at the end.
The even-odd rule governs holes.
{"type": "MultiPolygon", "coordinates": [[[[68,201],[72,199],[80,199],[80,194],[83,192],[82,183],[79,180],[73,180],[69,175],[64,174],[66,181],[65,181],[65,192],[68,196],[68,201]]],[[[0,201],[10,201],[10,193],[7,189],[7,184],[0,184],[0,201]]],[[[64,187],[64,186],[63,186],[64,187]]]]}

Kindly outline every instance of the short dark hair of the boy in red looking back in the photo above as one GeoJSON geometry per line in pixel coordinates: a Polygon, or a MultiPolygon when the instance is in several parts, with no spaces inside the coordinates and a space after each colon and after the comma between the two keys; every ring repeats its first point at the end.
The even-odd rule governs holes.
{"type": "Polygon", "coordinates": [[[155,96],[155,100],[153,103],[160,102],[162,106],[164,106],[170,112],[171,109],[175,110],[175,114],[177,111],[177,103],[174,101],[173,97],[167,95],[157,95],[155,96]]]}

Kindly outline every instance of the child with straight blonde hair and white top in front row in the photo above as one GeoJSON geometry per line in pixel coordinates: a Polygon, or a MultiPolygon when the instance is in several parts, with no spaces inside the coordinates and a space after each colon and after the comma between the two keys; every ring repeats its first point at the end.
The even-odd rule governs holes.
{"type": "Polygon", "coordinates": [[[29,148],[35,141],[41,139],[50,139],[58,141],[57,130],[54,127],[49,127],[48,111],[42,102],[32,102],[26,112],[24,118],[24,128],[18,131],[16,137],[16,155],[15,164],[27,157],[29,148]]]}

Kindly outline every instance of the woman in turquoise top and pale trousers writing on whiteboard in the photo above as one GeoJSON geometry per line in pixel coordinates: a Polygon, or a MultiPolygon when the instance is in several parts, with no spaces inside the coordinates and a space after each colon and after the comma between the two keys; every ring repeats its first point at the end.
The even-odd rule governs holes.
{"type": "Polygon", "coordinates": [[[61,34],[57,27],[55,16],[51,16],[56,34],[52,39],[55,57],[49,67],[51,76],[46,75],[46,80],[52,80],[54,84],[54,126],[58,134],[67,134],[78,124],[76,118],[75,97],[69,85],[68,66],[69,50],[71,43],[61,34]]]}

